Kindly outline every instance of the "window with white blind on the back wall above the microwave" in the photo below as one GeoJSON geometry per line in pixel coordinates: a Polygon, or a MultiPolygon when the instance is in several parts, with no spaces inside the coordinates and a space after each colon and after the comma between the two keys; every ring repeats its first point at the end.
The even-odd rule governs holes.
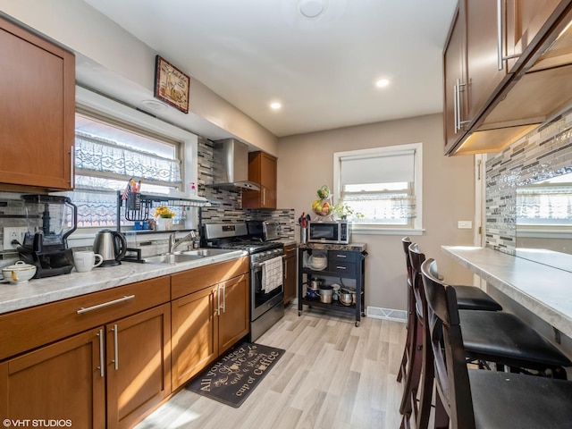
{"type": "Polygon", "coordinates": [[[334,195],[354,228],[421,228],[422,144],[334,154],[334,195]]]}

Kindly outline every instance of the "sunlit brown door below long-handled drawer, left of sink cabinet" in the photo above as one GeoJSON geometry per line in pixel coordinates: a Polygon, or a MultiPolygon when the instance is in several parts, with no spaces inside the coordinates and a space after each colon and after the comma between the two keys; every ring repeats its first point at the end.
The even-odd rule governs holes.
{"type": "Polygon", "coordinates": [[[131,427],[171,393],[171,306],[105,326],[107,427],[131,427]]]}

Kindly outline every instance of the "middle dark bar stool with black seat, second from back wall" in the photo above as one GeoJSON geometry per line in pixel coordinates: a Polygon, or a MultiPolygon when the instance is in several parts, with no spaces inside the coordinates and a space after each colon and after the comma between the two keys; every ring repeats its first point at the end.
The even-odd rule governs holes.
{"type": "MultiPolygon", "coordinates": [[[[409,390],[404,391],[408,404],[404,405],[403,399],[401,403],[404,406],[401,427],[407,427],[410,417],[414,416],[416,428],[425,428],[433,393],[433,354],[428,343],[427,305],[421,273],[425,254],[419,251],[418,246],[411,244],[409,257],[413,267],[416,306],[422,309],[422,314],[417,314],[417,321],[422,325],[422,347],[415,350],[416,356],[412,359],[420,362],[419,374],[411,374],[413,383],[418,384],[404,385],[409,390]]],[[[440,279],[436,263],[432,268],[433,277],[440,279]]],[[[564,366],[572,363],[517,316],[486,310],[459,310],[459,314],[463,326],[466,363],[488,367],[488,362],[493,362],[495,366],[507,366],[511,371],[566,378],[564,366]]]]}

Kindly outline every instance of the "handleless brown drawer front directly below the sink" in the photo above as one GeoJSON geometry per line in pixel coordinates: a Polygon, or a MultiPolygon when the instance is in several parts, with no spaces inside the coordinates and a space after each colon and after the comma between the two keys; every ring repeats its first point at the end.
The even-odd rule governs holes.
{"type": "Polygon", "coordinates": [[[178,299],[189,293],[203,290],[218,282],[231,279],[237,275],[248,273],[249,258],[240,257],[219,264],[211,264],[193,268],[171,276],[171,296],[178,299]]]}

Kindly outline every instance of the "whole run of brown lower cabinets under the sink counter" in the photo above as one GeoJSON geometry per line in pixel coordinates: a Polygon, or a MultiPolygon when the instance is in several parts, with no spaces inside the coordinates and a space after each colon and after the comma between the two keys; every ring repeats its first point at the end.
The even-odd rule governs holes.
{"type": "Polygon", "coordinates": [[[248,266],[242,257],[0,315],[0,416],[137,424],[248,334],[248,266]]]}

